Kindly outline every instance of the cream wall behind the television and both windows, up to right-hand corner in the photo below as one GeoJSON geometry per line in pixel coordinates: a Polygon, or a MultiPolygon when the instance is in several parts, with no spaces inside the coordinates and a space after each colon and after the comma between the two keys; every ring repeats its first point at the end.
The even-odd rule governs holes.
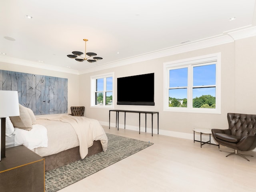
{"type": "MultiPolygon", "coordinates": [[[[241,40],[243,42],[243,40],[241,40]]],[[[246,40],[245,40],[246,41],[246,40]]],[[[80,94],[81,104],[86,106],[86,116],[98,119],[102,124],[108,125],[109,110],[90,107],[90,76],[114,72],[114,96],[116,98],[116,78],[123,76],[132,76],[137,74],[155,73],[155,106],[120,106],[114,102],[114,109],[126,110],[149,110],[159,112],[159,134],[178,136],[182,138],[191,138],[193,128],[228,128],[227,113],[240,112],[236,94],[239,90],[235,86],[236,64],[235,49],[238,44],[235,42],[194,50],[191,52],[167,56],[154,60],[129,64],[108,70],[92,72],[80,75],[80,94]],[[163,63],[185,58],[192,58],[207,54],[221,52],[221,114],[199,114],[183,112],[164,112],[163,111],[163,63]],[[236,89],[235,89],[236,88],[236,89]],[[83,97],[83,98],[82,98],[83,97]]],[[[241,53],[241,55],[244,53],[241,53]]],[[[242,57],[242,56],[241,56],[242,57]]],[[[241,58],[242,59],[242,58],[241,58]]],[[[254,59],[255,60],[255,59],[254,59]]],[[[254,69],[255,71],[255,69],[254,69]]],[[[244,73],[244,72],[243,72],[244,73]]],[[[243,81],[242,81],[243,82],[243,81]]],[[[241,82],[241,84],[242,84],[241,82]]],[[[244,82],[245,83],[245,82],[244,82]]],[[[252,85],[252,82],[251,82],[252,85]]],[[[255,93],[255,92],[254,92],[255,93]]],[[[247,108],[250,108],[248,106],[247,108]]],[[[244,112],[252,112],[250,109],[244,109],[244,112]]],[[[157,118],[154,117],[154,128],[156,128],[157,118]]],[[[120,126],[124,124],[124,114],[120,113],[120,126]]],[[[111,125],[115,126],[115,114],[111,116],[111,125]]],[[[138,127],[138,114],[126,114],[126,128],[133,129],[138,127]]],[[[144,115],[142,115],[141,126],[144,127],[144,115]]],[[[147,127],[151,126],[151,118],[147,118],[147,127]]],[[[143,130],[144,131],[144,130],[143,130]]],[[[156,131],[156,130],[154,130],[156,131]]]]}

